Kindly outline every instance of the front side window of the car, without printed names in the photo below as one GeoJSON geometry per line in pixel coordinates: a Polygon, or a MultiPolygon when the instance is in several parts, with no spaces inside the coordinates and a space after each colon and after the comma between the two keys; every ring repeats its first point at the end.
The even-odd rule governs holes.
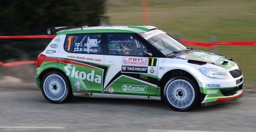
{"type": "Polygon", "coordinates": [[[109,55],[143,56],[146,47],[131,34],[108,34],[109,55]]]}

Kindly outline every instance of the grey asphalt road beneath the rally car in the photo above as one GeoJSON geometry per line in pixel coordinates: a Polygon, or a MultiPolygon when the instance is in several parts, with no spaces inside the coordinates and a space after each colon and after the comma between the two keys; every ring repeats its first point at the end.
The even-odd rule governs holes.
{"type": "Polygon", "coordinates": [[[162,101],[73,98],[49,103],[36,86],[0,86],[0,131],[255,131],[256,94],[175,112],[162,101]]]}

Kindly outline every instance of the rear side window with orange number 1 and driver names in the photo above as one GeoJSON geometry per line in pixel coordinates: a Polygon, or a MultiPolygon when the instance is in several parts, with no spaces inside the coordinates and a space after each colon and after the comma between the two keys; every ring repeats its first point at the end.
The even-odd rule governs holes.
{"type": "Polygon", "coordinates": [[[64,49],[71,53],[100,54],[101,34],[67,35],[64,49]]]}

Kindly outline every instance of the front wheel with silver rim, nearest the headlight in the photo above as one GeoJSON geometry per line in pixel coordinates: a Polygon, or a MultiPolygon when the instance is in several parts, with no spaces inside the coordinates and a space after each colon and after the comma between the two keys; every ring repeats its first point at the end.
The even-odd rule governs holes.
{"type": "Polygon", "coordinates": [[[189,111],[198,103],[199,87],[186,76],[176,76],[165,83],[163,98],[175,111],[189,111]]]}

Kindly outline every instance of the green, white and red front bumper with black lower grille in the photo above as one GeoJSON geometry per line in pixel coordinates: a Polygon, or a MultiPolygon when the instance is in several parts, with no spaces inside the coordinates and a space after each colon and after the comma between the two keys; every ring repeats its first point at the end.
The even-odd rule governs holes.
{"type": "Polygon", "coordinates": [[[203,100],[201,102],[201,106],[215,105],[237,100],[243,95],[242,87],[243,84],[236,87],[225,87],[211,90],[202,88],[201,97],[203,97],[203,100]]]}

